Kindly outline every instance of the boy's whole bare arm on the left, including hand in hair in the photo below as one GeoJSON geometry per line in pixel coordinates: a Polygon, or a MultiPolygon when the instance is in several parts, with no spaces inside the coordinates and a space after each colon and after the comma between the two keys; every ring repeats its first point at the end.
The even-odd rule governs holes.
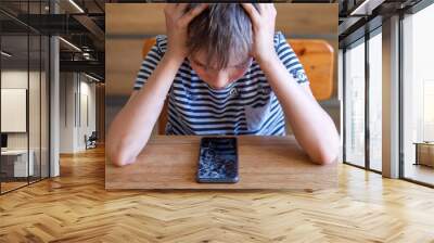
{"type": "Polygon", "coordinates": [[[106,152],[117,166],[135,163],[146,145],[173,80],[187,56],[188,24],[207,4],[186,12],[187,7],[188,3],[166,4],[167,51],[148,78],[145,87],[133,92],[110,126],[106,152]]]}

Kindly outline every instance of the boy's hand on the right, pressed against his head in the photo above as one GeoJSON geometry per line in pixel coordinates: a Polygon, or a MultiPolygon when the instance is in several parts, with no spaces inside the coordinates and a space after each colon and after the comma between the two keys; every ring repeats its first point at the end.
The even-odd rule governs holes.
{"type": "Polygon", "coordinates": [[[252,55],[258,62],[269,61],[277,56],[275,50],[275,25],[277,11],[272,3],[258,3],[257,11],[252,3],[241,3],[252,21],[252,55]]]}

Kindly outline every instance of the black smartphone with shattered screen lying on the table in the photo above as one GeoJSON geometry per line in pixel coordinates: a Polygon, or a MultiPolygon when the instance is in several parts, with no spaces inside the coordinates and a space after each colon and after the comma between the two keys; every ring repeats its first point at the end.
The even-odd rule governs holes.
{"type": "Polygon", "coordinates": [[[239,181],[237,138],[202,138],[196,180],[200,183],[239,181]]]}

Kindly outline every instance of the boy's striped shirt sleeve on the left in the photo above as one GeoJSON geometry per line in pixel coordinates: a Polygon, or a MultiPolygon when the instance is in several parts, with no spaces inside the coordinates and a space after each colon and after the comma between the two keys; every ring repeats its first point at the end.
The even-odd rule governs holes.
{"type": "Polygon", "coordinates": [[[139,73],[137,74],[133,90],[140,90],[148,81],[152,72],[156,68],[159,61],[162,60],[165,46],[167,44],[167,38],[165,36],[157,36],[156,43],[148,52],[140,66],[139,73]]]}

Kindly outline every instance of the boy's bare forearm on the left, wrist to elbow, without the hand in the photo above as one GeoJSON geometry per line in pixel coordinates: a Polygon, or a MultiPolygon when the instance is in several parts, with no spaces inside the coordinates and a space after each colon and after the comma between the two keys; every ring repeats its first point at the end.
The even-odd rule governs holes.
{"type": "Polygon", "coordinates": [[[182,56],[166,53],[148,79],[145,88],[133,91],[116,115],[107,136],[106,152],[112,163],[117,166],[131,164],[143,150],[182,61],[182,56]]]}

